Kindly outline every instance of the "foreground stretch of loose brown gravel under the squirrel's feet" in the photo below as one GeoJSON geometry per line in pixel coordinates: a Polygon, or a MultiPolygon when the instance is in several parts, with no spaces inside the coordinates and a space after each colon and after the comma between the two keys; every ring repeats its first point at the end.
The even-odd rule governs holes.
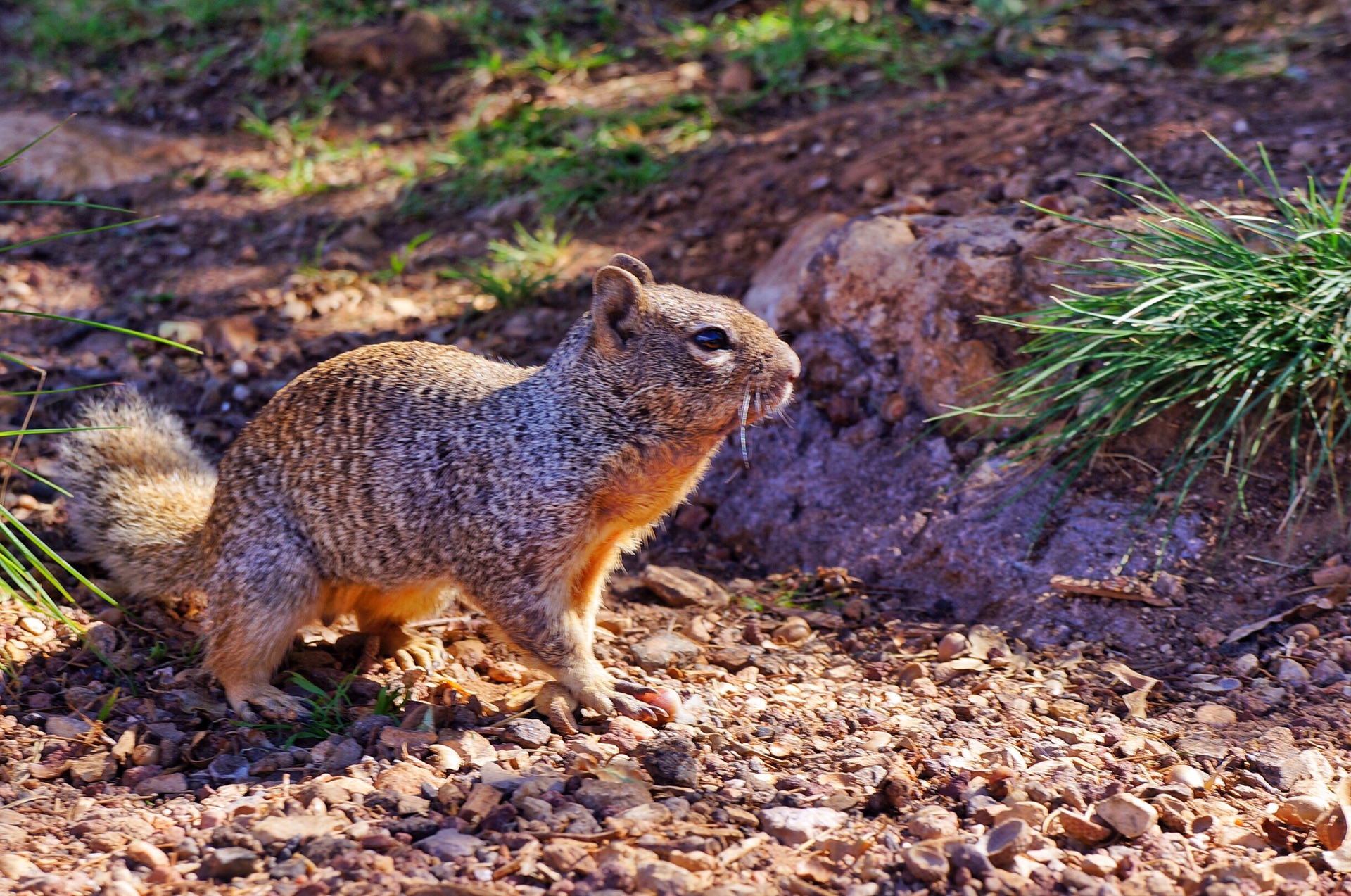
{"type": "Polygon", "coordinates": [[[551,730],[465,615],[427,626],[455,658],[432,674],[307,630],[315,720],[250,728],[189,665],[192,618],[81,611],[82,641],[5,604],[0,893],[1229,896],[1351,870],[1336,608],[1161,665],[913,622],[844,570],[647,568],[608,605],[603,661],[676,689],[674,722],[551,730]]]}

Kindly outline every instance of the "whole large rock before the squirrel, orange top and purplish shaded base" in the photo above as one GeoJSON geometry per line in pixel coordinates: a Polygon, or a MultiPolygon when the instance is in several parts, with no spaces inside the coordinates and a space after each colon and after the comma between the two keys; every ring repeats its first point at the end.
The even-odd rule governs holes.
{"type": "MultiPolygon", "coordinates": [[[[770,420],[750,434],[748,472],[731,447],[715,461],[700,489],[713,511],[709,531],[770,569],[846,566],[911,607],[982,618],[1032,643],[1094,631],[1125,649],[1154,646],[1138,615],[1104,622],[1097,600],[1066,599],[1058,614],[1025,622],[1051,576],[1101,577],[1123,555],[1128,576],[1154,562],[1151,551],[1129,550],[1139,496],[1071,491],[1047,515],[1054,477],[1020,478],[971,430],[943,435],[925,423],[946,405],[977,401],[1013,362],[1017,334],[981,315],[1047,301],[1067,272],[1042,258],[1100,254],[1078,239],[1084,230],[1051,223],[858,218],[820,238],[800,287],[757,293],[755,311],[790,331],[802,358],[801,400],[792,424],[770,420]],[[1027,538],[1040,523],[1029,558],[1027,538]]],[[[804,253],[798,245],[780,261],[796,265],[804,253]]],[[[1197,518],[1182,514],[1165,562],[1198,555],[1197,532],[1197,518]]]]}

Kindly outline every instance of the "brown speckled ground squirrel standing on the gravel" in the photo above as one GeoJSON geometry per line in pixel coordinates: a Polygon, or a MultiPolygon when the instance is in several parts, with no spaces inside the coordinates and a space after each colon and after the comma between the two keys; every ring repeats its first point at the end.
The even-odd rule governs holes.
{"type": "Polygon", "coordinates": [[[542,366],[430,342],[324,361],[219,472],[141,396],[86,404],[61,447],[73,531],[131,593],[205,597],[205,665],[243,719],[304,714],[272,677],[313,620],[351,614],[405,669],[436,666],[440,642],[404,626],[458,595],[569,710],[658,720],[657,692],[596,659],[605,582],[801,368],[739,303],[631,255],[593,291],[542,366]]]}

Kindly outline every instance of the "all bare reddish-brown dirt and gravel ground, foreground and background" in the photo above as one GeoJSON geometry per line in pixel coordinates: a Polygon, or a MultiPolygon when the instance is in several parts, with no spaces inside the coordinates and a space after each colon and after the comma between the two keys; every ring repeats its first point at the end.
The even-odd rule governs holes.
{"type": "MultiPolygon", "coordinates": [[[[1177,12],[1173,34],[1169,9],[1139,7],[1113,8],[1144,23],[1121,30],[1124,45],[1088,36],[1092,53],[1046,69],[975,65],[942,88],[885,85],[824,108],[770,97],[727,116],[665,180],[565,218],[574,237],[557,280],[517,308],[439,272],[509,241],[538,208],[440,207],[434,180],[390,177],[485,97],[509,93],[501,84],[355,76],[323,135],[367,146],[319,159],[328,188],[316,192],[235,176],[285,181],[296,161],[285,142],[239,130],[242,76],[146,82],[131,108],[112,103],[116,76],[86,69],[11,88],[0,116],[93,112],[105,130],[77,132],[70,158],[85,147],[154,174],[78,191],[145,222],[0,255],[3,307],[93,315],[204,354],[34,318],[5,319],[0,349],[46,370],[45,388],[134,384],[219,457],[292,377],[359,345],[431,339],[543,361],[611,251],[643,257],[659,280],[739,296],[819,211],[1020,214],[1029,199],[1108,216],[1119,200],[1075,174],[1138,172],[1089,124],[1189,199],[1244,189],[1206,134],[1246,157],[1263,145],[1292,182],[1340,176],[1351,157],[1340,43],[1304,55],[1296,45],[1298,65],[1270,77],[1143,66],[1128,50],[1171,58],[1210,32],[1204,15],[1177,12]]],[[[658,54],[551,95],[508,86],[600,105],[607,89],[681,78],[723,89],[713,62],[681,73],[658,54]]],[[[58,174],[93,168],[68,159],[58,174]]],[[[16,172],[7,199],[55,195],[55,181],[16,172]]],[[[12,205],[0,241],[119,220],[12,205]]],[[[4,389],[34,384],[23,368],[0,373],[4,389]]],[[[27,405],[0,401],[0,419],[22,423],[27,405]]],[[[34,423],[69,408],[43,399],[34,423]]],[[[50,474],[53,446],[30,437],[19,459],[50,474]]],[[[1206,488],[1219,500],[1225,487],[1206,488]]],[[[55,491],[16,476],[3,497],[81,565],[55,491]]],[[[340,627],[307,630],[286,669],[317,691],[295,677],[288,689],[313,697],[316,715],[297,731],[231,716],[197,666],[190,608],[119,593],[112,608],[74,589],[80,635],[0,601],[0,893],[1342,892],[1351,545],[1325,518],[1256,558],[1251,545],[1270,543],[1271,527],[1252,523],[1185,581],[1155,582],[1152,605],[1048,595],[1036,614],[1101,628],[1034,649],[847,570],[742,562],[677,516],[628,569],[697,558],[716,584],[689,597],[620,577],[598,654],[627,678],[674,688],[682,711],[659,728],[588,719],[574,735],[530,711],[539,682],[476,614],[426,624],[455,657],[444,676],[373,661],[340,627]],[[1206,624],[1197,595],[1223,601],[1225,619],[1283,615],[1227,641],[1231,626],[1206,624]],[[1165,632],[1167,650],[1108,646],[1115,619],[1165,632]]]]}

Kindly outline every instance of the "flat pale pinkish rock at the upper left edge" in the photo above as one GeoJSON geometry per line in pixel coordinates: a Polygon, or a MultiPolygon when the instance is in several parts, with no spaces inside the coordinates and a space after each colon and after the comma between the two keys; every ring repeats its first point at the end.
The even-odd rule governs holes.
{"type": "Polygon", "coordinates": [[[53,128],[5,169],[7,177],[39,184],[49,195],[69,196],[149,181],[203,157],[201,143],[195,139],[89,118],[62,123],[39,112],[11,111],[0,112],[0,158],[53,128]]]}

